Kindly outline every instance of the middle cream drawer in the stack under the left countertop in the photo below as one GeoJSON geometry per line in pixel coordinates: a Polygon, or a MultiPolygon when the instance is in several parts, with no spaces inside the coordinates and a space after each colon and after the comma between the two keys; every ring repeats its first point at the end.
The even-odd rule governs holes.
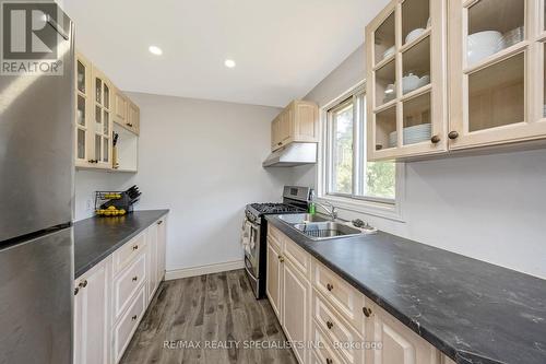
{"type": "Polygon", "coordinates": [[[114,319],[117,320],[134,293],[146,281],[146,255],[141,254],[127,270],[114,280],[114,319]]]}

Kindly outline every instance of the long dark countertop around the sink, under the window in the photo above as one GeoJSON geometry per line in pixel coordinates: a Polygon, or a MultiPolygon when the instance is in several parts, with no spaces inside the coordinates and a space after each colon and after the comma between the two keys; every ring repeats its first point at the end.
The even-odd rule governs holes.
{"type": "Polygon", "coordinates": [[[456,363],[546,363],[546,280],[387,233],[313,242],[268,221],[456,363]]]}

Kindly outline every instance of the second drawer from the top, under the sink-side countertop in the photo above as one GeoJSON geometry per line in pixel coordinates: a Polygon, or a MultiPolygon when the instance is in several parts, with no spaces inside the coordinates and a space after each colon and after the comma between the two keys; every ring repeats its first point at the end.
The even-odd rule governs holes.
{"type": "Polygon", "coordinates": [[[348,364],[364,364],[365,343],[361,336],[316,290],[312,294],[312,317],[348,364]]]}

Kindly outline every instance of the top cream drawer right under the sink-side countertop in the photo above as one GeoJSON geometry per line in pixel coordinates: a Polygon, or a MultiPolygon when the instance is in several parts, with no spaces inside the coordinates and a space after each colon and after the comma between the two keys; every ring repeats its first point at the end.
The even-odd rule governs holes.
{"type": "Polygon", "coordinates": [[[345,317],[358,333],[364,334],[364,295],[341,277],[313,259],[312,284],[345,317]]]}

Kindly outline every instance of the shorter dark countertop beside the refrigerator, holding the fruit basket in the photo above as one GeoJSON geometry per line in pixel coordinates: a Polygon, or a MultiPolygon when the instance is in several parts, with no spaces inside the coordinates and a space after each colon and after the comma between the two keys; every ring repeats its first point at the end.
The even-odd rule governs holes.
{"type": "Polygon", "coordinates": [[[78,221],[74,224],[74,277],[81,277],[168,212],[145,210],[124,216],[78,221]]]}

